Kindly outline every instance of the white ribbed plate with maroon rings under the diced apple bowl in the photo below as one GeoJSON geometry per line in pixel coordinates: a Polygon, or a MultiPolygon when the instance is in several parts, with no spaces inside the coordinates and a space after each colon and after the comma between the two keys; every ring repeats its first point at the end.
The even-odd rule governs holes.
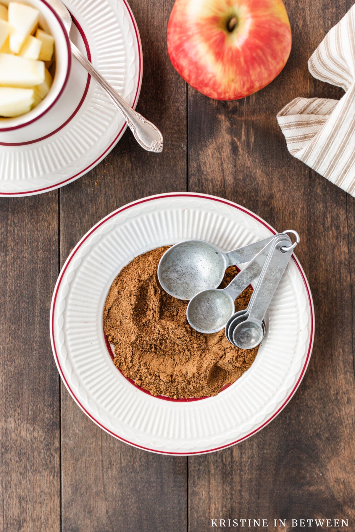
{"type": "MultiPolygon", "coordinates": [[[[133,107],[142,83],[142,45],[126,0],[66,0],[72,40],[133,107]]],[[[111,151],[127,124],[108,96],[72,59],[59,101],[29,126],[0,133],[0,196],[62,187],[111,151]]]]}

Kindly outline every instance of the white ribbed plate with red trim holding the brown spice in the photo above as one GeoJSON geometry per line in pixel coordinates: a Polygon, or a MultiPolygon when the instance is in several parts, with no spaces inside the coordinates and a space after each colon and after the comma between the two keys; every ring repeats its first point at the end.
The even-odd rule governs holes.
{"type": "Polygon", "coordinates": [[[233,202],[171,193],[129,203],[82,237],[54,289],[51,341],[65,386],[98,426],[147,451],[187,455],[234,445],[275,418],[298,388],[313,344],[312,296],[294,255],[255,361],[215,397],[167,401],[144,393],[114,366],[102,325],[112,281],[135,256],[185,239],[227,251],[271,234],[268,223],[233,202]]]}

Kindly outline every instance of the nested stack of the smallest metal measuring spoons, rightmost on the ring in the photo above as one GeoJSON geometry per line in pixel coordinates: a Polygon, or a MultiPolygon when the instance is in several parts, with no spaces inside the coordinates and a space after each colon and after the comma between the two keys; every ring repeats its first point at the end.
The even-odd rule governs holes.
{"type": "MultiPolygon", "coordinates": [[[[286,231],[285,231],[286,232],[286,231]]],[[[287,246],[285,242],[276,242],[269,246],[269,253],[262,272],[246,309],[235,312],[227,321],[225,334],[230,343],[241,349],[252,349],[260,344],[265,336],[264,316],[275,290],[290,261],[300,237],[296,231],[296,242],[287,246]]]]}

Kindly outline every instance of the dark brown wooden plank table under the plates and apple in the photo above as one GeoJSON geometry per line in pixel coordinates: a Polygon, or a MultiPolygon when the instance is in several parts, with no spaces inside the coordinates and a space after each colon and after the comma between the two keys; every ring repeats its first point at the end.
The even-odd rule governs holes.
{"type": "Polygon", "coordinates": [[[296,96],[341,97],[311,77],[307,60],[352,2],[287,0],[285,69],[235,102],[202,96],[172,68],[172,4],[130,1],[144,55],[137,110],[163,132],[164,152],[143,152],[127,131],[85,177],[0,200],[0,530],[204,532],[216,518],[265,518],[269,529],[287,519],[287,530],[292,518],[344,518],[355,530],[355,200],[294,159],[276,121],[296,96]],[[297,229],[316,309],[313,354],[291,403],[240,445],[188,459],[138,450],[94,425],[60,381],[48,327],[57,275],[81,236],[120,205],[177,190],[297,229]]]}

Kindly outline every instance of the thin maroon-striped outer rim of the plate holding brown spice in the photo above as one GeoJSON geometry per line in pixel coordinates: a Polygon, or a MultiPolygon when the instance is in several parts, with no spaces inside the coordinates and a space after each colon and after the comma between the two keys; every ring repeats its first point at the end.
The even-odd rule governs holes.
{"type": "Polygon", "coordinates": [[[84,237],[81,238],[81,240],[79,240],[78,244],[75,246],[75,248],[70,253],[68,259],[65,261],[65,263],[63,265],[63,268],[61,270],[61,273],[59,275],[59,278],[57,279],[57,282],[56,282],[56,285],[55,285],[55,288],[54,288],[52,304],[51,304],[51,314],[50,314],[50,318],[49,318],[49,320],[50,320],[49,329],[50,329],[50,334],[51,334],[51,343],[52,343],[52,350],[53,350],[54,360],[55,360],[56,366],[58,368],[58,371],[60,372],[60,375],[61,375],[61,377],[63,379],[63,382],[64,382],[65,386],[67,387],[68,392],[70,393],[72,398],[75,400],[75,402],[78,404],[78,406],[80,406],[81,410],[84,411],[86,413],[86,415],[96,423],[96,425],[101,427],[103,430],[105,430],[107,433],[111,434],[115,438],[120,439],[122,442],[128,443],[129,445],[133,445],[134,447],[138,447],[138,448],[144,449],[145,451],[151,451],[153,453],[158,453],[158,454],[170,454],[170,455],[184,455],[184,456],[187,456],[187,455],[193,455],[193,454],[211,453],[211,452],[219,451],[219,450],[227,448],[227,447],[231,447],[232,445],[235,445],[237,443],[240,443],[244,439],[249,438],[253,434],[257,433],[259,430],[261,430],[263,427],[268,425],[268,423],[270,423],[270,421],[272,421],[277,416],[277,414],[279,414],[285,408],[286,404],[288,402],[290,402],[292,396],[295,394],[297,388],[299,387],[299,385],[300,385],[300,383],[302,381],[304,372],[306,371],[308,363],[309,363],[309,360],[310,360],[310,355],[311,355],[312,346],[313,346],[313,339],[314,339],[314,319],[315,319],[315,317],[314,317],[312,296],[311,296],[311,293],[310,293],[310,289],[308,287],[308,281],[306,279],[306,276],[303,273],[301,264],[299,263],[298,259],[296,259],[296,257],[294,255],[292,255],[292,259],[293,259],[296,267],[298,268],[298,270],[299,270],[299,272],[301,274],[304,286],[306,287],[307,296],[308,296],[308,303],[309,303],[309,309],[310,309],[310,316],[311,316],[310,340],[309,340],[306,360],[304,361],[303,368],[301,370],[300,376],[299,376],[298,380],[296,381],[296,384],[294,385],[293,389],[291,390],[291,393],[287,396],[287,398],[285,399],[283,404],[278,408],[278,410],[276,412],[274,412],[270,416],[270,418],[267,421],[263,422],[258,428],[252,430],[249,434],[247,434],[245,436],[242,436],[241,438],[236,439],[232,443],[228,443],[226,445],[221,445],[219,447],[212,448],[212,449],[207,449],[205,451],[191,451],[191,452],[183,452],[183,453],[181,453],[181,452],[173,452],[173,451],[159,451],[159,450],[156,450],[156,449],[151,449],[150,447],[144,447],[143,445],[139,445],[139,444],[130,442],[128,439],[122,438],[122,436],[119,436],[118,434],[115,434],[112,430],[106,428],[100,421],[95,419],[95,417],[86,410],[85,406],[83,406],[81,404],[79,398],[75,395],[75,393],[73,393],[72,389],[69,386],[69,383],[68,383],[67,379],[64,376],[64,373],[62,371],[62,368],[61,368],[61,365],[60,365],[60,362],[59,362],[59,358],[58,358],[58,354],[57,354],[57,350],[56,350],[56,345],[55,345],[55,339],[54,339],[54,310],[55,310],[55,303],[56,303],[56,298],[57,298],[59,287],[61,285],[64,273],[65,273],[65,271],[68,268],[68,265],[72,261],[73,257],[75,256],[75,254],[77,253],[79,248],[82,246],[82,244],[84,244],[86,242],[86,239],[90,235],[92,235],[93,232],[96,231],[96,229],[98,229],[99,227],[101,227],[103,225],[103,223],[105,223],[106,221],[110,220],[111,218],[117,216],[121,212],[123,212],[123,211],[125,211],[127,209],[130,209],[130,207],[133,207],[135,205],[139,205],[139,204],[142,204],[142,203],[153,201],[153,200],[156,200],[158,198],[170,198],[170,197],[196,197],[196,198],[203,198],[203,199],[206,199],[206,200],[222,203],[222,204],[228,205],[230,207],[234,207],[234,209],[242,211],[245,214],[250,215],[252,218],[254,218],[254,220],[259,221],[264,227],[266,227],[269,231],[271,231],[272,234],[274,234],[274,235],[276,234],[276,231],[271,226],[269,226],[269,224],[267,222],[262,220],[257,214],[254,214],[253,212],[249,211],[248,209],[245,209],[245,207],[242,207],[241,205],[238,205],[236,203],[230,202],[228,200],[223,200],[222,198],[219,198],[219,197],[216,197],[216,196],[210,196],[208,194],[194,194],[194,193],[186,193],[186,192],[185,193],[184,192],[180,192],[180,193],[170,193],[170,194],[156,194],[154,196],[148,196],[146,198],[143,198],[142,200],[137,200],[135,202],[128,203],[127,205],[124,205],[123,207],[120,207],[120,209],[117,209],[116,211],[112,212],[111,214],[109,214],[108,216],[103,218],[100,222],[98,222],[92,229],[90,229],[87,232],[86,235],[84,235],[84,237]]]}

